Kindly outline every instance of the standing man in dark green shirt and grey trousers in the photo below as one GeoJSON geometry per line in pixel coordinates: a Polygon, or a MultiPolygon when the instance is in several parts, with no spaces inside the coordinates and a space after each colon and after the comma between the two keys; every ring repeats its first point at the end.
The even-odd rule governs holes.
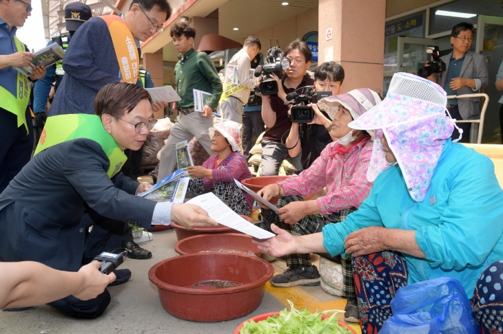
{"type": "Polygon", "coordinates": [[[176,92],[182,99],[176,102],[178,122],[172,127],[170,137],[161,150],[158,179],[167,177],[176,168],[174,152],[178,142],[192,140],[195,136],[209,155],[215,154],[209,149],[212,140],[209,139],[208,129],[213,126],[212,113],[222,95],[222,82],[212,60],[204,52],[196,52],[192,47],[196,37],[194,27],[187,23],[177,23],[172,27],[171,37],[176,51],[180,52],[178,63],[174,67],[174,77],[176,92]],[[194,112],[193,89],[212,94],[205,101],[202,113],[194,112]]]}

